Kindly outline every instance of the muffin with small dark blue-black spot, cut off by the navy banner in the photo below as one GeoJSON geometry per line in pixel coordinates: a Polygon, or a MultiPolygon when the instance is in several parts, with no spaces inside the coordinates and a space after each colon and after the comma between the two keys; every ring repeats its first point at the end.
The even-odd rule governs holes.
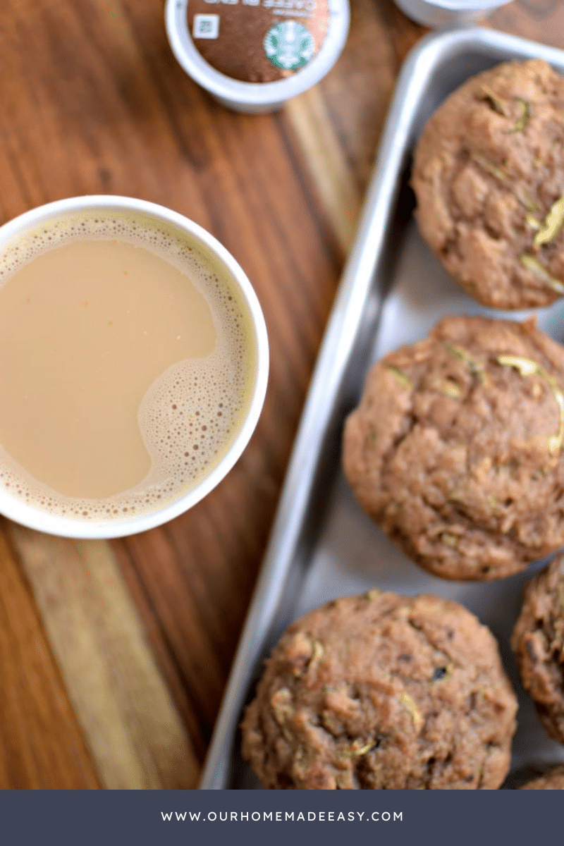
{"type": "Polygon", "coordinates": [[[373,590],[282,634],[242,752],[266,788],[493,789],[516,711],[496,640],[466,608],[373,590]]]}

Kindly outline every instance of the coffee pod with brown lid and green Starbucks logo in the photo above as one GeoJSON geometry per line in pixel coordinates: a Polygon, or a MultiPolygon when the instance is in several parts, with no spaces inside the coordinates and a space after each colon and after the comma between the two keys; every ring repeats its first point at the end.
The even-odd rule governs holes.
{"type": "Polygon", "coordinates": [[[238,112],[271,112],[319,82],[344,47],[348,0],[167,0],[172,51],[238,112]]]}

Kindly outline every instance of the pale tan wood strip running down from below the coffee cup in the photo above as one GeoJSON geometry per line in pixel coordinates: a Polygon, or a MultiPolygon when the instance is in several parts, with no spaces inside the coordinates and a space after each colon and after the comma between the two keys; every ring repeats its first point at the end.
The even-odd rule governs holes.
{"type": "Polygon", "coordinates": [[[12,524],[105,788],[186,788],[198,766],[105,541],[12,524]]]}

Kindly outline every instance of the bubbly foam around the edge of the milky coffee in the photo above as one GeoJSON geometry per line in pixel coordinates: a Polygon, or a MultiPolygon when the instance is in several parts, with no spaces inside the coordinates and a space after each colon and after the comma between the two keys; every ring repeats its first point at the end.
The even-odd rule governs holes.
{"type": "Polygon", "coordinates": [[[151,470],[128,491],[105,499],[63,496],[0,447],[0,488],[11,496],[67,519],[118,521],[172,503],[219,464],[249,405],[254,334],[243,295],[215,256],[172,226],[141,214],[81,212],[44,224],[2,250],[0,285],[36,256],[76,239],[118,239],[170,262],[205,297],[216,328],[216,347],[209,356],[171,365],[145,393],[138,422],[151,470]]]}

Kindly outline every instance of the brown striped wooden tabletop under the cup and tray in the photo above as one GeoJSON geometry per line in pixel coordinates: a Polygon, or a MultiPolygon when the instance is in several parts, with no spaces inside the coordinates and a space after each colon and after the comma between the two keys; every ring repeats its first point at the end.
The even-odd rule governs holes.
{"type": "MultiPolygon", "coordinates": [[[[486,25],[564,47],[564,4],[486,25]]],[[[352,0],[348,44],[282,112],[227,111],[172,56],[162,0],[0,4],[0,222],[71,195],[180,211],[249,275],[259,426],[188,514],[118,541],[0,518],[0,788],[195,788],[402,60],[424,29],[352,0]]]]}

